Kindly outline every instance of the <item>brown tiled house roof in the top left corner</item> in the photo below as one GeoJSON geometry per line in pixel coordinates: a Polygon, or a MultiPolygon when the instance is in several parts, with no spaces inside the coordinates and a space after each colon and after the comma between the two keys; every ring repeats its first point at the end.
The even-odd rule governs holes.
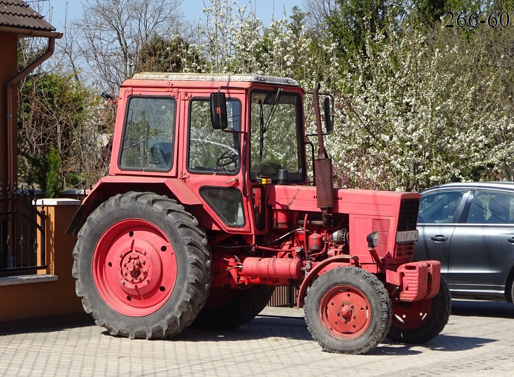
{"type": "Polygon", "coordinates": [[[56,30],[41,14],[21,0],[0,0],[0,26],[39,31],[56,30]]]}

